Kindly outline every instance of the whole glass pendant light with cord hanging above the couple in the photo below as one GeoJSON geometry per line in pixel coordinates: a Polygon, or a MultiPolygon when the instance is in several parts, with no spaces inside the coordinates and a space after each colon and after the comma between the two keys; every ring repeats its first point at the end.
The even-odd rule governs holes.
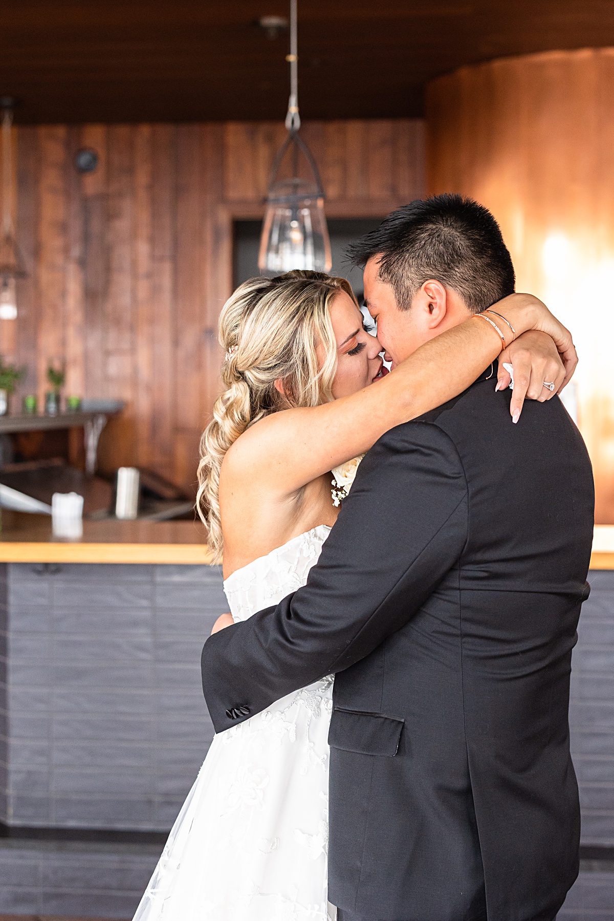
{"type": "Polygon", "coordinates": [[[275,157],[266,212],[262,222],[258,267],[262,274],[277,275],[291,269],[330,272],[329,228],[324,214],[324,190],[316,161],[298,134],[298,42],[296,0],[290,0],[290,99],[285,116],[288,135],[275,157]],[[307,178],[300,164],[307,164],[307,178]],[[289,175],[284,166],[289,164],[289,175]]]}

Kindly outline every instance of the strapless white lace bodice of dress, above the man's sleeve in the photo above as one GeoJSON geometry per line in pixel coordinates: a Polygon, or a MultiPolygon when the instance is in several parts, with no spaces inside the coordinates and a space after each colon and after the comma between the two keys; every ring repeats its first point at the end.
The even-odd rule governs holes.
{"type": "Polygon", "coordinates": [[[309,569],[318,562],[329,534],[328,525],[321,524],[229,576],[224,590],[235,621],[247,621],[252,614],[270,608],[305,585],[309,569]]]}

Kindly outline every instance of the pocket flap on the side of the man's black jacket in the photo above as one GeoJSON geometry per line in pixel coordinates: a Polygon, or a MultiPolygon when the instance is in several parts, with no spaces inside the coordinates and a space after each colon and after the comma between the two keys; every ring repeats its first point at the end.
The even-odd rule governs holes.
{"type": "Polygon", "coordinates": [[[330,719],[329,745],[343,752],[392,757],[399,750],[404,722],[397,717],[385,717],[383,713],[336,706],[330,719]]]}

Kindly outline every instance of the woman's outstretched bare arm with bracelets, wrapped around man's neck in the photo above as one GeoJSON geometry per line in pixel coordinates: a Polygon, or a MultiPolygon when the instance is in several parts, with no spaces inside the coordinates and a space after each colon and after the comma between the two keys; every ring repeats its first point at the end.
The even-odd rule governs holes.
{"type": "MultiPolygon", "coordinates": [[[[542,367],[552,368],[550,378],[542,377],[542,381],[555,379],[552,392],[571,378],[577,358],[570,332],[536,297],[510,295],[494,308],[500,316],[492,317],[492,321],[504,335],[505,357],[515,364],[516,349],[523,363],[521,368],[515,364],[510,407],[514,417],[531,385],[531,373],[527,371],[527,349],[522,343],[511,345],[511,329],[500,317],[509,321],[516,335],[531,330],[550,335],[561,353],[565,371],[558,363],[559,372],[555,374],[551,361],[550,365],[544,363],[543,352],[537,362],[539,373],[542,367]]],[[[365,453],[390,428],[462,393],[500,356],[502,348],[502,339],[492,324],[471,317],[423,344],[385,378],[351,396],[320,406],[284,410],[262,419],[228,451],[222,478],[226,473],[234,479],[233,474],[238,472],[244,479],[249,471],[254,486],[258,484],[277,495],[290,495],[337,464],[365,453]]],[[[535,380],[534,374],[533,385],[535,380]]]]}

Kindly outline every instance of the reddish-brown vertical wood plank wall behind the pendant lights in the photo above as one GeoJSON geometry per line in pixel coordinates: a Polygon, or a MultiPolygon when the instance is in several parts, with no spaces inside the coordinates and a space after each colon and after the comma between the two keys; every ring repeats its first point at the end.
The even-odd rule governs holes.
{"type": "MultiPolygon", "coordinates": [[[[42,400],[48,362],[65,392],[126,401],[101,467],[152,467],[193,484],[218,392],[216,323],[231,293],[233,220],[261,216],[284,127],[272,122],[14,129],[17,238],[28,268],[0,350],[42,400]],[[76,173],[75,152],[98,151],[76,173]]],[[[424,190],[423,122],[304,129],[334,217],[380,216],[424,190]]]]}

